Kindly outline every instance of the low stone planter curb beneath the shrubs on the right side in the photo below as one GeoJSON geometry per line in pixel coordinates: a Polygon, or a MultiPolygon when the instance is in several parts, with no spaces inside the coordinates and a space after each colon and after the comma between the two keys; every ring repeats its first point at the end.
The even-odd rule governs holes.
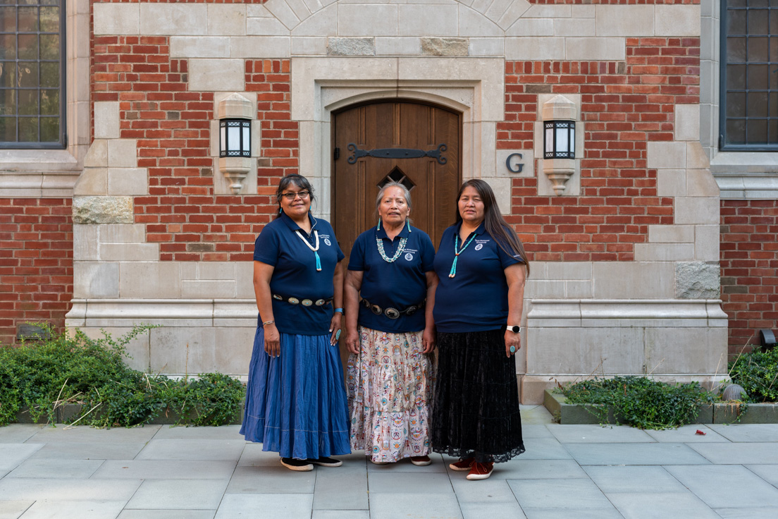
{"type": "MultiPolygon", "coordinates": [[[[543,405],[562,425],[600,423],[594,412],[587,409],[594,409],[594,404],[568,404],[566,396],[546,390],[543,405]]],[[[748,404],[739,422],[737,419],[736,405],[705,404],[691,423],[778,423],[778,404],[748,404]]],[[[608,412],[608,423],[618,423],[612,411],[608,412]]]]}

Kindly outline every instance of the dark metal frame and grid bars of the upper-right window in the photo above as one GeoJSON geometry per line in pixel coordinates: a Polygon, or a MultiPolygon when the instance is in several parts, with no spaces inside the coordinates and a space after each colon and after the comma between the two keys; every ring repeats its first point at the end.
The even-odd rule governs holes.
{"type": "MultiPolygon", "coordinates": [[[[727,16],[727,9],[742,9],[748,12],[748,9],[767,9],[768,12],[770,10],[778,12],[778,7],[771,5],[772,2],[766,2],[766,5],[763,6],[749,6],[748,3],[746,3],[745,7],[737,7],[737,8],[731,8],[730,5],[728,5],[728,0],[721,0],[721,10],[720,10],[720,60],[719,60],[719,75],[720,75],[720,82],[719,82],[719,149],[720,151],[726,151],[726,152],[776,152],[778,151],[778,135],[773,135],[773,133],[776,133],[775,130],[771,130],[770,128],[770,122],[771,119],[773,121],[776,120],[776,117],[770,117],[769,116],[769,110],[770,110],[770,93],[778,93],[778,89],[771,89],[770,87],[770,80],[768,79],[767,83],[767,96],[768,96],[768,107],[766,108],[766,119],[767,119],[767,135],[766,140],[774,140],[774,144],[771,144],[769,142],[760,142],[756,144],[748,144],[748,143],[733,143],[728,142],[727,140],[727,121],[733,120],[733,119],[744,119],[746,121],[746,124],[748,124],[748,93],[755,91],[754,89],[748,89],[748,78],[745,79],[745,88],[743,89],[731,89],[730,91],[734,92],[742,92],[745,93],[745,103],[744,103],[744,111],[742,117],[727,117],[727,39],[729,37],[728,30],[728,16],[727,16]]],[[[746,15],[746,33],[745,38],[752,37],[752,34],[748,33],[748,15],[746,15]]],[[[778,75],[778,72],[773,72],[773,69],[778,71],[778,56],[773,56],[770,52],[770,44],[769,39],[770,37],[776,37],[778,38],[778,33],[772,34],[770,31],[769,26],[769,15],[768,15],[768,28],[767,28],[767,35],[766,38],[768,40],[767,44],[767,52],[768,52],[768,61],[766,62],[766,65],[769,67],[769,74],[772,75],[773,73],[776,73],[778,75]],[[770,63],[773,63],[773,66],[770,65],[770,63]]],[[[756,36],[756,35],[754,35],[756,36]]],[[[748,43],[748,42],[747,42],[748,43]]],[[[747,47],[746,47],[747,48],[747,47]]],[[[748,65],[749,63],[754,63],[753,61],[748,61],[748,58],[746,58],[746,61],[743,62],[744,65],[748,65]]],[[[761,64],[761,62],[758,62],[761,64]]],[[[761,91],[761,89],[760,89],[761,91]]],[[[756,117],[751,117],[752,119],[756,117]]],[[[759,117],[759,119],[762,119],[762,117],[759,117]]],[[[745,129],[745,139],[748,139],[748,126],[746,126],[745,129]]]]}

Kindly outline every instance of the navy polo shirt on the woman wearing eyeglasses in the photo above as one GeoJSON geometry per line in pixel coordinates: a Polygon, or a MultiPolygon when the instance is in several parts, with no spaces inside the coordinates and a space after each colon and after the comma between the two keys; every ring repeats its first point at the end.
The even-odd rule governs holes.
{"type": "MultiPolygon", "coordinates": [[[[316,219],[308,214],[311,223],[310,235],[300,229],[294,220],[282,213],[280,218],[273,220],[262,229],[254,242],[254,261],[273,265],[273,275],[270,278],[270,290],[284,297],[279,301],[273,298],[273,319],[279,331],[296,335],[323,335],[330,329],[332,319],[332,304],[321,307],[315,304],[304,307],[302,303],[291,304],[287,298],[298,300],[330,299],[335,294],[332,277],[335,275],[335,265],[345,258],[345,254],[335,240],[335,231],[323,219],[316,219]],[[321,272],[316,270],[316,257],[299,235],[306,237],[311,246],[316,246],[314,231],[319,234],[319,258],[321,272]]],[[[262,324],[258,317],[258,326],[262,324]]]]}

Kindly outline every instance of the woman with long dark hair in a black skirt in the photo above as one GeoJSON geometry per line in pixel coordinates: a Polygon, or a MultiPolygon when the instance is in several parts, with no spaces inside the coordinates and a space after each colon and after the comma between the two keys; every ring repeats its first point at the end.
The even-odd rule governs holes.
{"type": "Polygon", "coordinates": [[[529,262],[485,181],[464,182],[435,256],[438,377],[430,437],[449,467],[487,479],[524,452],[513,356],[529,262]]]}

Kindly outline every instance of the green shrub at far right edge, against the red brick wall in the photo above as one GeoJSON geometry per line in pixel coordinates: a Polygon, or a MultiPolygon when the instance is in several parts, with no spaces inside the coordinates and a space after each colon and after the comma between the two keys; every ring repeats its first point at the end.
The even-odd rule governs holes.
{"type": "Polygon", "coordinates": [[[778,402],[778,348],[738,356],[729,373],[732,382],[745,389],[747,402],[778,402]]]}

